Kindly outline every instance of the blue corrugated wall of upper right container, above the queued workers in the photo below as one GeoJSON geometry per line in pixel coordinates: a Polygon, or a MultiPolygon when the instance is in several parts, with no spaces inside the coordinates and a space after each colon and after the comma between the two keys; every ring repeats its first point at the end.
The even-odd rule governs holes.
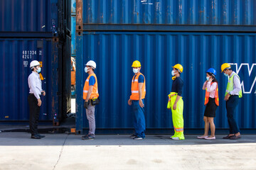
{"type": "Polygon", "coordinates": [[[86,24],[256,25],[255,0],[85,0],[86,24]]]}

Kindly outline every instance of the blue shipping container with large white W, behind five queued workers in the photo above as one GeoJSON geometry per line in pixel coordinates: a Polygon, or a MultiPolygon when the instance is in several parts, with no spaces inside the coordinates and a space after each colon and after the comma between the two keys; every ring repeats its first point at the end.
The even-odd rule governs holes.
{"type": "Polygon", "coordinates": [[[228,79],[220,65],[228,62],[238,72],[243,97],[237,108],[240,128],[256,128],[256,35],[254,33],[169,33],[169,32],[84,32],[76,40],[77,130],[87,128],[82,89],[87,74],[85,63],[94,60],[100,104],[96,107],[97,128],[132,128],[132,62],[142,63],[146,77],[146,128],[173,128],[167,95],[171,91],[171,66],[183,65],[184,127],[203,128],[205,109],[202,90],[206,70],[217,70],[220,106],[216,128],[228,128],[224,94],[228,79]]]}

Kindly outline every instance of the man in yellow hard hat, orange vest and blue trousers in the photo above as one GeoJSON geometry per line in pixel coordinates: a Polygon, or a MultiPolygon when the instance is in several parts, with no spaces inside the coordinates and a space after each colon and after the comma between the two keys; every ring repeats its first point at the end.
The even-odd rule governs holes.
{"type": "Polygon", "coordinates": [[[146,79],[139,72],[142,65],[139,61],[132,63],[134,77],[132,78],[132,95],[129,98],[129,106],[133,105],[134,111],[134,135],[130,137],[134,140],[142,140],[145,138],[146,123],[144,116],[144,98],[146,96],[146,79]]]}

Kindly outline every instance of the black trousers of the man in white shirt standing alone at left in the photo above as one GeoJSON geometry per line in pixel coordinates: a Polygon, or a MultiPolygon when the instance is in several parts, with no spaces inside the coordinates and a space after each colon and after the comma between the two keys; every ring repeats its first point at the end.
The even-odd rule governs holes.
{"type": "Polygon", "coordinates": [[[40,113],[40,106],[38,106],[38,100],[33,94],[28,95],[28,105],[29,105],[29,128],[31,135],[38,134],[38,119],[40,113]]]}

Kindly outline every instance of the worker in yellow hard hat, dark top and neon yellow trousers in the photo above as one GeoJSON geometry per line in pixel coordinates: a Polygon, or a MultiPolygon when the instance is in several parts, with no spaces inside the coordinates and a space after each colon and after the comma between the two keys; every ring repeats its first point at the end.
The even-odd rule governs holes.
{"type": "Polygon", "coordinates": [[[183,134],[183,100],[181,97],[183,88],[183,80],[181,79],[182,72],[183,67],[181,64],[174,65],[171,72],[174,82],[171,86],[167,108],[171,109],[174,124],[174,135],[170,137],[172,140],[185,140],[183,134]]]}

